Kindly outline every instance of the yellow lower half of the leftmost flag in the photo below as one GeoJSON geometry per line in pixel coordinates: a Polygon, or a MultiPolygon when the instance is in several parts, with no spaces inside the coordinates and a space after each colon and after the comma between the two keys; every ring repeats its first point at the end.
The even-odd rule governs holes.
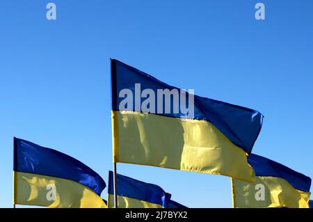
{"type": "Polygon", "coordinates": [[[78,182],[16,171],[13,177],[15,204],[54,208],[106,208],[97,193],[78,182]]]}

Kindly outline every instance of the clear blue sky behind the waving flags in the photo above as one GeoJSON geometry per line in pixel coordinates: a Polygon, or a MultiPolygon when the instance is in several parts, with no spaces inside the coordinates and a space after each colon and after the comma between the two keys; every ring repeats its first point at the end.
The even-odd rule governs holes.
{"type": "MultiPolygon", "coordinates": [[[[313,1],[0,3],[0,207],[12,206],[13,136],[112,169],[109,58],[201,96],[256,109],[252,152],[313,177],[313,1]]],[[[57,164],[57,163],[56,163],[57,164]]],[[[118,164],[188,207],[232,207],[230,177],[118,164]]],[[[104,190],[103,197],[106,198],[104,190]]]]}

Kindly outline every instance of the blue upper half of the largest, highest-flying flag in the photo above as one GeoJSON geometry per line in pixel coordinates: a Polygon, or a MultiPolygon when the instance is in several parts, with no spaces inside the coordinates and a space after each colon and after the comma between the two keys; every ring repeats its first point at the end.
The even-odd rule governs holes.
{"type": "Polygon", "coordinates": [[[152,98],[153,100],[150,100],[150,102],[154,101],[154,104],[149,104],[148,113],[211,122],[232,143],[247,153],[251,152],[262,127],[263,115],[258,111],[193,94],[192,98],[190,97],[191,94],[185,90],[163,83],[149,74],[115,59],[111,60],[111,81],[113,110],[145,112],[143,104],[147,104],[147,98],[151,99],[155,96],[152,98]],[[158,94],[158,90],[177,90],[179,92],[178,100],[175,100],[174,95],[166,100],[163,95],[158,94]],[[130,104],[121,107],[121,104],[125,104],[125,97],[127,97],[125,92],[130,92],[133,98],[129,102],[130,104]],[[184,93],[181,94],[180,92],[184,93]],[[162,96],[163,99],[159,100],[158,96],[162,96]],[[157,101],[161,102],[158,103],[157,101]],[[181,109],[181,107],[189,109],[190,104],[193,104],[192,116],[181,109]],[[168,111],[164,108],[166,106],[170,106],[168,111]],[[174,109],[175,106],[178,107],[177,111],[174,109]]]}

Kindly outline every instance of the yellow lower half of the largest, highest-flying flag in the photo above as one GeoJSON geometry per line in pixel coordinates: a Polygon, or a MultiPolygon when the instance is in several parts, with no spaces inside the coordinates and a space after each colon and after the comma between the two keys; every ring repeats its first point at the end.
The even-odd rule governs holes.
{"type": "Polygon", "coordinates": [[[248,182],[255,172],[246,152],[210,122],[147,113],[113,111],[116,161],[227,175],[248,182]]]}

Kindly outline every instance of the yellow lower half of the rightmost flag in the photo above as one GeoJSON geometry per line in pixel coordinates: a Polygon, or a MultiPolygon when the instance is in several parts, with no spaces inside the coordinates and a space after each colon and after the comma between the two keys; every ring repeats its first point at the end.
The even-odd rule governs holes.
{"type": "Polygon", "coordinates": [[[234,207],[308,208],[310,193],[279,177],[257,177],[255,183],[232,179],[234,207]]]}

